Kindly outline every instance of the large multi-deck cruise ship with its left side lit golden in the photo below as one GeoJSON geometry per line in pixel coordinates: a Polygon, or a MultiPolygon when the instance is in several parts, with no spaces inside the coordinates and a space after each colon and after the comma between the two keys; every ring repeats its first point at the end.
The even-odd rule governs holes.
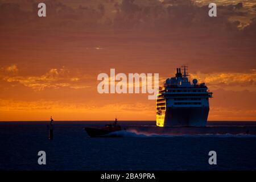
{"type": "Polygon", "coordinates": [[[188,80],[187,66],[177,68],[175,77],[167,78],[156,98],[156,126],[204,127],[209,113],[209,92],[205,83],[188,80]]]}

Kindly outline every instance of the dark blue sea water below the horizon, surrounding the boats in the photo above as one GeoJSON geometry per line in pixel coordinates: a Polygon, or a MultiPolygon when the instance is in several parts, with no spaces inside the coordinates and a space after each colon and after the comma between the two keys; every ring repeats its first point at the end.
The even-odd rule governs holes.
{"type": "MultiPolygon", "coordinates": [[[[256,135],[161,135],[122,131],[121,138],[89,138],[84,127],[106,122],[0,122],[3,170],[255,170],[256,135]],[[209,165],[208,152],[217,152],[209,165]],[[38,152],[46,152],[46,165],[38,152]]],[[[108,123],[108,122],[107,122],[108,123]]],[[[122,126],[154,126],[152,121],[120,121],[122,126]]],[[[256,127],[256,122],[209,122],[208,126],[256,127]]],[[[227,132],[228,133],[228,132],[227,132]]]]}

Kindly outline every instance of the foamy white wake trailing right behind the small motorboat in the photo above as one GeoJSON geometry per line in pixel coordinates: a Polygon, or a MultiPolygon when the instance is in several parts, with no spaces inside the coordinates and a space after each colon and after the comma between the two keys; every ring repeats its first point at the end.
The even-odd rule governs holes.
{"type": "Polygon", "coordinates": [[[155,134],[155,133],[146,133],[140,132],[137,130],[122,130],[115,131],[106,135],[106,137],[236,137],[236,138],[256,138],[256,135],[252,134],[155,134]]]}

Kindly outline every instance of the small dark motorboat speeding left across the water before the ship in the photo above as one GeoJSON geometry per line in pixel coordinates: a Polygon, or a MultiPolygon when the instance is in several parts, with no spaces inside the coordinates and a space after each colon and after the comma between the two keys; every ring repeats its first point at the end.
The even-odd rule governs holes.
{"type": "Polygon", "coordinates": [[[120,131],[122,129],[121,129],[121,126],[119,126],[117,123],[117,118],[115,118],[115,121],[113,124],[105,125],[105,127],[102,129],[85,127],[84,130],[89,135],[89,137],[118,137],[118,134],[113,134],[113,135],[112,134],[109,135],[109,134],[115,131],[120,131]]]}

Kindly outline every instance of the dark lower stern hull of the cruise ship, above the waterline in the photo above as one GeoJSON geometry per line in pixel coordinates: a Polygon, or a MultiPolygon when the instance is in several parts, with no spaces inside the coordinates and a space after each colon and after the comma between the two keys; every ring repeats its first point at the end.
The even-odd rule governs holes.
{"type": "Polygon", "coordinates": [[[209,107],[167,107],[162,122],[164,127],[204,127],[207,125],[208,114],[209,107]]]}

